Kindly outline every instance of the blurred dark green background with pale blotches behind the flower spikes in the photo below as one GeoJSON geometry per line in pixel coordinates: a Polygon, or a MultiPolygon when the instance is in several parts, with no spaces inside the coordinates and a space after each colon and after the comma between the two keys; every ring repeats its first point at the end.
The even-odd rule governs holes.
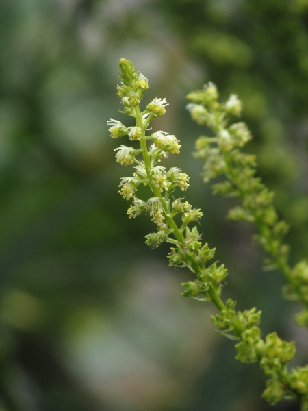
{"type": "MultiPolygon", "coordinates": [[[[131,169],[115,162],[106,121],[123,119],[118,59],[166,97],[155,129],[176,134],[166,166],[190,175],[185,198],[204,212],[203,240],[229,268],[225,297],[263,310],[264,333],[295,339],[283,279],[264,272],[253,227],[224,220],[192,158],[203,134],[185,95],[209,80],[244,102],[259,174],[292,225],[292,262],[308,242],[307,0],[2,0],[0,3],[0,410],[259,411],[257,365],[235,362],[214,309],[181,297],[185,270],[151,251],[146,216],[118,195],[131,169]],[[177,162],[177,163],[175,163],[177,162]]],[[[120,142],[120,144],[125,144],[120,142]]]]}

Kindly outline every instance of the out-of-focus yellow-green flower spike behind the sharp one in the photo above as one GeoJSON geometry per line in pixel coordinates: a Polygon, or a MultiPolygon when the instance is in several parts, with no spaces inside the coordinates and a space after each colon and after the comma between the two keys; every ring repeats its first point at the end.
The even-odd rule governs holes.
{"type": "Polygon", "coordinates": [[[283,243],[288,231],[285,221],[279,219],[272,200],[274,193],[256,177],[255,156],[240,149],[251,139],[245,123],[230,124],[230,116],[239,116],[242,103],[231,95],[225,103],[218,102],[214,84],[188,95],[188,110],[197,123],[207,125],[214,136],[201,136],[196,141],[196,158],[203,160],[203,179],[209,182],[218,176],[220,182],[213,184],[214,194],[240,197],[242,205],[229,210],[227,218],[232,221],[255,223],[259,234],[255,240],[270,254],[266,268],[281,269],[288,286],[284,294],[303,302],[305,310],[296,316],[299,325],[308,325],[308,264],[300,262],[294,269],[288,264],[289,247],[283,243]]]}

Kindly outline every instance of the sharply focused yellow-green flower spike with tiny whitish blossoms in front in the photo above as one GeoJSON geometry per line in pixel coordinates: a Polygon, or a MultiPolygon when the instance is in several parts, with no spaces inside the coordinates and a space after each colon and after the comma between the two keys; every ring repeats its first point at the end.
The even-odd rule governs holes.
{"type": "MultiPolygon", "coordinates": [[[[209,263],[215,249],[201,243],[196,226],[189,227],[190,223],[201,218],[200,209],[192,208],[181,197],[170,198],[178,187],[182,191],[187,190],[189,177],[177,167],[166,170],[164,166],[157,165],[168,154],[178,154],[181,148],[175,136],[163,131],[149,132],[151,120],[166,112],[166,100],[156,98],[140,111],[140,101],[149,88],[148,81],[128,60],[120,59],[119,66],[121,84],[118,86],[118,97],[124,106],[123,113],[133,117],[136,125],[126,127],[113,119],[108,121],[108,125],[112,138],[128,136],[129,140],[138,144],[137,148],[121,145],[116,149],[116,160],[120,164],[135,164],[133,175],[123,177],[120,182],[120,194],[132,200],[127,211],[129,218],[149,214],[157,225],[157,231],[146,236],[146,244],[155,248],[162,242],[169,242],[172,245],[168,254],[170,266],[188,267],[194,273],[196,279],[182,284],[185,286],[183,295],[214,303],[218,314],[212,316],[212,321],[218,331],[238,341],[235,345],[236,358],[240,362],[259,362],[264,369],[267,378],[264,399],[277,403],[281,399],[299,397],[301,410],[308,411],[308,366],[287,368],[287,362],[295,354],[294,343],[281,340],[275,332],[261,338],[261,312],[255,308],[240,312],[235,310],[235,301],[222,301],[222,282],[227,276],[227,269],[223,265],[209,263]],[[150,198],[146,201],[136,197],[140,184],[149,187],[150,198]],[[181,218],[181,225],[175,223],[177,215],[181,218]]],[[[211,89],[207,88],[207,92],[211,89]]],[[[237,104],[232,99],[228,110],[234,110],[237,104]]],[[[243,139],[236,133],[235,136],[238,140],[243,139]]],[[[220,159],[217,160],[218,164],[214,159],[213,166],[209,164],[209,168],[214,170],[219,167],[220,159]]]]}

